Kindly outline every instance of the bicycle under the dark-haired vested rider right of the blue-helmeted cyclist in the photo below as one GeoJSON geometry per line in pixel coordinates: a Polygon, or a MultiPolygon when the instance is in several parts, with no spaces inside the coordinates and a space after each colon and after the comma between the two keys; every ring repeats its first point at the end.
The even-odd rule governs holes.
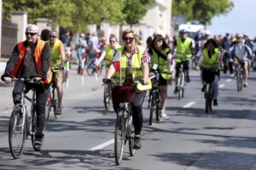
{"type": "Polygon", "coordinates": [[[205,82],[205,111],[208,113],[212,111],[212,101],[214,97],[214,91],[212,87],[212,82],[214,81],[216,69],[203,68],[203,81],[205,82]]]}

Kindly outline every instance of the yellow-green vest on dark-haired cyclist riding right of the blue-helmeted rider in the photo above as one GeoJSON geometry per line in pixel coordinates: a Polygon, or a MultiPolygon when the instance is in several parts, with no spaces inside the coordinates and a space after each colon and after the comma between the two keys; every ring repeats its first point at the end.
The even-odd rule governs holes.
{"type": "Polygon", "coordinates": [[[208,55],[207,48],[203,49],[202,54],[204,56],[204,59],[201,65],[204,68],[218,68],[218,48],[214,48],[214,54],[212,54],[211,58],[208,55]]]}

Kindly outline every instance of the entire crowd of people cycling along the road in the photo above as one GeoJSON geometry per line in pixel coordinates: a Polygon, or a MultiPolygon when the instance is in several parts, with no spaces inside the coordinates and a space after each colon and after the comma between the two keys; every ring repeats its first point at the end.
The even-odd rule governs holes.
{"type": "MultiPolygon", "coordinates": [[[[124,45],[119,45],[116,35],[110,37],[97,37],[96,32],[92,35],[79,34],[72,48],[72,37],[70,31],[66,31],[59,39],[57,31],[49,31],[48,38],[42,40],[38,36],[38,27],[28,25],[26,27],[26,40],[19,42],[12,52],[6,69],[2,76],[4,82],[11,82],[14,77],[32,77],[37,75],[37,81],[41,84],[15,83],[13,98],[15,105],[20,103],[20,93],[24,88],[36,90],[37,99],[37,131],[36,141],[41,144],[44,140],[45,105],[49,93],[50,82],[55,83],[57,89],[58,106],[57,113],[61,114],[61,101],[63,96],[62,83],[65,69],[66,54],[75,50],[78,60],[78,74],[81,74],[83,54],[88,57],[95,57],[96,65],[102,61],[105,63],[106,75],[102,79],[104,83],[113,80],[116,83],[125,83],[127,77],[133,82],[148,84],[151,69],[157,68],[160,71],[160,117],[166,117],[166,100],[168,86],[172,83],[172,72],[175,72],[174,94],[177,94],[177,75],[183,65],[186,82],[190,82],[189,71],[192,57],[198,58],[196,69],[201,69],[202,88],[205,90],[205,80],[211,75],[214,89],[213,105],[218,105],[218,80],[220,71],[224,74],[229,70],[234,75],[234,68],[241,65],[244,74],[244,87],[248,86],[249,64],[253,69],[254,56],[256,54],[256,38],[250,40],[246,35],[227,33],[223,38],[211,37],[209,31],[198,31],[195,37],[188,37],[188,31],[180,30],[178,37],[163,37],[161,34],[154,34],[148,37],[147,47],[140,45],[141,40],[136,31],[127,29],[122,32],[121,39],[124,45]],[[213,74],[212,74],[213,72],[213,74]]],[[[47,35],[47,34],[46,34],[47,35]]],[[[137,91],[132,102],[132,113],[135,128],[134,148],[140,149],[141,131],[143,127],[143,101],[146,91],[137,91]]],[[[118,112],[119,103],[113,103],[114,111],[118,112]]]]}

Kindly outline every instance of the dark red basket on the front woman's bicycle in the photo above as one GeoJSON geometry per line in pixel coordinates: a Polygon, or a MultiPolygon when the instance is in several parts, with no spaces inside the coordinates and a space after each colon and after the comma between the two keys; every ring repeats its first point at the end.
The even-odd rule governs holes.
{"type": "Polygon", "coordinates": [[[112,88],[113,103],[133,102],[135,90],[131,86],[115,86],[112,88]]]}

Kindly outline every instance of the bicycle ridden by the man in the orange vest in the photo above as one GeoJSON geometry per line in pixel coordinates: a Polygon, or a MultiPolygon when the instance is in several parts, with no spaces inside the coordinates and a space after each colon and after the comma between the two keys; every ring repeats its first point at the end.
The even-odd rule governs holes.
{"type": "MultiPolygon", "coordinates": [[[[12,82],[35,82],[35,77],[30,78],[13,78],[12,82]]],[[[32,98],[29,98],[25,92],[21,94],[21,103],[14,106],[9,119],[9,149],[11,155],[18,159],[23,153],[24,145],[28,136],[31,136],[32,146],[34,150],[41,150],[41,144],[35,143],[35,133],[37,127],[37,114],[35,111],[36,106],[36,92],[32,88],[32,98]],[[27,99],[31,102],[31,115],[27,114],[26,102],[27,99]]]]}

